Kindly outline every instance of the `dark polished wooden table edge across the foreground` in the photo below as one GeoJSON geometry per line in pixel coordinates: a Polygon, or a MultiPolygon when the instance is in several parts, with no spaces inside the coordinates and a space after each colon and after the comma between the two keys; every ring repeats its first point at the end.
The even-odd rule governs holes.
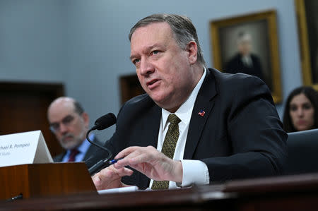
{"type": "Polygon", "coordinates": [[[229,181],[169,191],[81,193],[0,202],[0,210],[318,210],[318,174],[229,181]]]}

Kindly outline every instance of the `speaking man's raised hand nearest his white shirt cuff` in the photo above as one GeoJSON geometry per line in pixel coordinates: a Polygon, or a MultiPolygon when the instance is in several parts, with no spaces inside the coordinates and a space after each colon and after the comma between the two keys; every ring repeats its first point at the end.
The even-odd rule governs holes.
{"type": "Polygon", "coordinates": [[[182,183],[182,163],[170,159],[152,146],[128,147],[114,158],[119,159],[114,164],[116,169],[130,166],[150,179],[182,183]]]}

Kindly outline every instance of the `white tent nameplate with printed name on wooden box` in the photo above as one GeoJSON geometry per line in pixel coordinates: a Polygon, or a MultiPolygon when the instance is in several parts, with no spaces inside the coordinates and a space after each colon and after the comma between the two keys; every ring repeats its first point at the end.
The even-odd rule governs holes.
{"type": "Polygon", "coordinates": [[[0,135],[0,167],[53,162],[41,131],[0,135]]]}

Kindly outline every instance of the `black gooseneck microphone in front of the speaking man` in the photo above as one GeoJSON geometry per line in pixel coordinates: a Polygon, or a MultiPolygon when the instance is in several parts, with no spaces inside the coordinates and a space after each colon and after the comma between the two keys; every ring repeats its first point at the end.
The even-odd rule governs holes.
{"type": "Polygon", "coordinates": [[[110,150],[108,150],[106,147],[103,147],[102,145],[98,145],[97,143],[93,143],[93,141],[91,141],[90,138],[88,137],[89,133],[91,131],[96,130],[96,129],[98,131],[104,130],[104,129],[112,126],[114,123],[116,123],[116,116],[112,113],[105,114],[104,116],[101,116],[100,118],[98,118],[95,121],[95,126],[90,128],[90,130],[86,133],[86,139],[88,140],[89,143],[91,143],[92,145],[95,145],[96,147],[99,147],[102,150],[105,150],[108,153],[107,158],[101,159],[98,163],[94,164],[93,167],[90,167],[90,169],[88,169],[88,172],[90,173],[90,175],[93,175],[93,174],[95,174],[95,172],[102,169],[104,164],[107,163],[108,159],[110,159],[110,157],[112,157],[112,152],[110,152],[110,150]]]}

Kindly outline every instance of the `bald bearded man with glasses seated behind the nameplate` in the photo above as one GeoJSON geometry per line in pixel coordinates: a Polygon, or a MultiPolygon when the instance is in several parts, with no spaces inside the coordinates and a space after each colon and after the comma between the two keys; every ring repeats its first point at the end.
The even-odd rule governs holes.
{"type": "MultiPolygon", "coordinates": [[[[51,131],[65,149],[65,152],[53,158],[54,162],[81,162],[96,154],[98,147],[86,140],[89,116],[76,100],[71,97],[57,98],[49,105],[47,118],[51,131]]],[[[90,140],[98,141],[93,134],[90,140]]],[[[86,164],[89,168],[94,163],[86,164]]]]}

